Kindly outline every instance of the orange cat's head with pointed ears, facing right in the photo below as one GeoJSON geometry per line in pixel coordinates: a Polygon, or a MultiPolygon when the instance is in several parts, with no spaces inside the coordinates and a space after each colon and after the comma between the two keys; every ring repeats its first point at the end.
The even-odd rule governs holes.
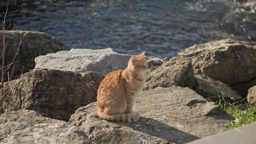
{"type": "Polygon", "coordinates": [[[129,60],[128,67],[133,70],[146,71],[148,69],[148,62],[145,58],[145,52],[141,55],[132,56],[129,60]]]}

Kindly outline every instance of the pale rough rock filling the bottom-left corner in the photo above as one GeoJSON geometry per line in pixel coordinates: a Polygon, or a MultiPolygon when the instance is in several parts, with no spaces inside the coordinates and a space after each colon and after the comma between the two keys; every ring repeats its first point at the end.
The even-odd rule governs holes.
{"type": "Polygon", "coordinates": [[[78,127],[32,110],[0,116],[0,143],[91,143],[78,127]]]}

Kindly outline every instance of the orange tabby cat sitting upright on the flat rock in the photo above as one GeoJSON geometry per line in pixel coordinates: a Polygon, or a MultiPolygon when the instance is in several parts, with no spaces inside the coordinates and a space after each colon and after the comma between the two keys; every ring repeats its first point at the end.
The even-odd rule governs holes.
{"type": "Polygon", "coordinates": [[[138,121],[139,112],[133,111],[133,105],[144,86],[147,69],[143,52],[132,56],[125,70],[109,73],[98,87],[97,116],[114,122],[138,121]]]}

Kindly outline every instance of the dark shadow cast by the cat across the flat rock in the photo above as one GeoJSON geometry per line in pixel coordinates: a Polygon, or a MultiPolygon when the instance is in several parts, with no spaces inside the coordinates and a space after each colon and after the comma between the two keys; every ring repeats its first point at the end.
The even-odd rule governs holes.
{"type": "MultiPolygon", "coordinates": [[[[110,121],[109,121],[110,122],[110,121]]],[[[115,122],[112,122],[115,123],[115,122]]],[[[200,137],[191,135],[184,131],[170,127],[162,122],[156,121],[152,118],[140,117],[136,123],[116,123],[130,127],[134,130],[141,131],[142,133],[159,137],[161,139],[174,142],[174,143],[187,143],[193,140],[200,139],[200,137]]],[[[184,127],[180,125],[180,127],[184,127]]]]}

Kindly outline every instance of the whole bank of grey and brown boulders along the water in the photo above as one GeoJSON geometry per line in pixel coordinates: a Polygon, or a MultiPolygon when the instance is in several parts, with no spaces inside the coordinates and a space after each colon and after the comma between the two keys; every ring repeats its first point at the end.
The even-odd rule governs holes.
{"type": "Polygon", "coordinates": [[[127,124],[97,118],[95,101],[104,75],[124,69],[130,55],[71,49],[40,32],[6,36],[7,65],[16,63],[4,83],[0,143],[186,143],[234,120],[207,98],[237,104],[247,98],[256,106],[255,42],[223,39],[172,58],[147,57],[146,86],[136,101],[141,118],[127,124]]]}

